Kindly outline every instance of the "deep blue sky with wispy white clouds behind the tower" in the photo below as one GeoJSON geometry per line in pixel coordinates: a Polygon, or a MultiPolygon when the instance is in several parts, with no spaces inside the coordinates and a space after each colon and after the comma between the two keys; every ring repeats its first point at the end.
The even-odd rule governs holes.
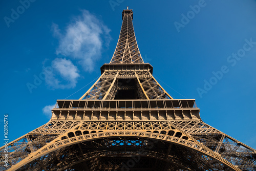
{"type": "Polygon", "coordinates": [[[0,123],[8,114],[10,141],[49,121],[56,99],[90,88],[111,60],[126,6],[161,86],[195,98],[204,122],[256,148],[252,0],[1,1],[0,123]]]}

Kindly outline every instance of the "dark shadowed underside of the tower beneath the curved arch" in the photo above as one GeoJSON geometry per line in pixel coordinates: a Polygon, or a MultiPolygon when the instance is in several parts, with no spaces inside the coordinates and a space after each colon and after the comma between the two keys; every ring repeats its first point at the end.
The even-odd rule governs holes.
{"type": "Polygon", "coordinates": [[[90,168],[88,170],[95,171],[101,170],[102,166],[105,165],[105,162],[113,163],[117,160],[119,161],[119,164],[116,162],[115,166],[120,166],[120,161],[124,164],[121,166],[121,168],[118,167],[116,170],[129,170],[130,167],[132,167],[131,170],[137,170],[138,168],[138,170],[167,170],[166,168],[169,167],[171,167],[170,170],[211,170],[208,168],[212,168],[212,166],[204,164],[207,162],[215,163],[215,166],[213,166],[215,169],[226,170],[225,167],[219,164],[216,160],[212,160],[210,158],[204,160],[204,157],[205,156],[199,154],[198,152],[192,152],[190,149],[178,145],[176,146],[173,143],[163,142],[155,139],[149,140],[147,138],[144,138],[143,140],[143,138],[134,137],[115,137],[84,141],[63,147],[58,151],[47,154],[47,156],[32,161],[25,167],[18,170],[57,171],[74,170],[77,168],[79,168],[78,170],[86,170],[80,167],[80,165],[82,165],[83,167],[88,166],[88,168],[90,168]],[[125,142],[123,140],[126,140],[125,148],[123,144],[125,142]],[[115,144],[115,142],[117,143],[115,144]],[[137,148],[134,148],[135,145],[137,148]],[[168,153],[169,146],[172,146],[172,152],[170,153],[168,153]],[[84,147],[89,150],[84,149],[84,147]],[[108,149],[105,147],[108,147],[108,149]],[[79,148],[83,148],[84,151],[80,152],[79,148]],[[182,158],[180,158],[181,156],[182,158]],[[95,162],[95,160],[97,161],[95,162]],[[143,165],[145,160],[150,160],[151,162],[147,162],[147,164],[151,164],[151,167],[153,168],[143,165]],[[200,162],[196,162],[196,160],[200,160],[200,162]],[[100,165],[101,168],[92,168],[92,162],[97,163],[97,165],[100,165]],[[156,164],[152,165],[152,163],[157,163],[158,167],[156,168],[156,164]],[[159,168],[159,165],[164,167],[159,168]],[[147,169],[145,169],[145,167],[147,167],[147,169]]]}

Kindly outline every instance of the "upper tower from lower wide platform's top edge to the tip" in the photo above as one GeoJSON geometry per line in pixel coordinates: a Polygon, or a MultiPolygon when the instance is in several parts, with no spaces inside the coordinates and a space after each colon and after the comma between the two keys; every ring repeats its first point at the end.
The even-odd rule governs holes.
{"type": "Polygon", "coordinates": [[[81,99],[173,99],[144,63],[135,38],[133,10],[122,12],[123,23],[114,55],[101,69],[100,78],[81,99]]]}

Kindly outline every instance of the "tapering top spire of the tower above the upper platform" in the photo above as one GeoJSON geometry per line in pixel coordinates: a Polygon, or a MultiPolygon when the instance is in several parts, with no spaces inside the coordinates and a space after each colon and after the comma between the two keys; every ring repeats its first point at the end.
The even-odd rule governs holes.
{"type": "Polygon", "coordinates": [[[135,38],[133,10],[127,7],[122,12],[122,27],[116,50],[110,63],[144,63],[135,38]]]}

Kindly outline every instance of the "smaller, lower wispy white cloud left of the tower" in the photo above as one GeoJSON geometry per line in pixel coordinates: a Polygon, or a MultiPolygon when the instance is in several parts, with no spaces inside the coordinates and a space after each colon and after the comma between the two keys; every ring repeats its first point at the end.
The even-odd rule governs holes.
{"type": "MultiPolygon", "coordinates": [[[[48,67],[49,69],[49,67],[48,67]]],[[[70,89],[74,88],[77,83],[78,69],[73,65],[71,60],[55,58],[52,61],[51,70],[46,70],[46,83],[53,89],[70,89]],[[58,77],[60,76],[60,78],[58,77]]]]}

